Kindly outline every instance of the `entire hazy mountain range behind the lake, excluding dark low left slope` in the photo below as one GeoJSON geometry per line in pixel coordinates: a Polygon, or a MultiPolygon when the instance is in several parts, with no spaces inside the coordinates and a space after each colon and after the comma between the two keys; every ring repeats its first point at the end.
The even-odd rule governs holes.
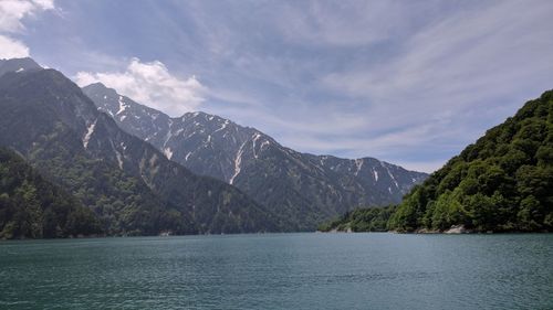
{"type": "Polygon", "coordinates": [[[427,178],[373,158],[301,153],[215,115],[171,118],[31,58],[0,61],[0,147],[92,210],[95,234],[310,231],[356,206],[397,203],[427,178]]]}

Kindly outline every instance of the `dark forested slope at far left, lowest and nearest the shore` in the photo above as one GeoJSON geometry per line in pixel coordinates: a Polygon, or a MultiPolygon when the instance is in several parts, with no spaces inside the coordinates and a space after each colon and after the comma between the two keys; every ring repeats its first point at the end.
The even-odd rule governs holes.
{"type": "Polygon", "coordinates": [[[0,239],[98,233],[100,222],[90,209],[17,153],[0,148],[0,239]]]}

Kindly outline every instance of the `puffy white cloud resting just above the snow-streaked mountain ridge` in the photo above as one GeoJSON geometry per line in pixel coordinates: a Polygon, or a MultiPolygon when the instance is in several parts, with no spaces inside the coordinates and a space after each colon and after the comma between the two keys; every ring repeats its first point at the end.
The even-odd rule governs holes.
{"type": "Polygon", "coordinates": [[[207,92],[196,76],[179,78],[171,75],[159,61],[143,63],[138,58],[131,60],[125,72],[79,72],[75,81],[80,86],[101,82],[122,95],[170,116],[196,110],[205,100],[207,92]]]}

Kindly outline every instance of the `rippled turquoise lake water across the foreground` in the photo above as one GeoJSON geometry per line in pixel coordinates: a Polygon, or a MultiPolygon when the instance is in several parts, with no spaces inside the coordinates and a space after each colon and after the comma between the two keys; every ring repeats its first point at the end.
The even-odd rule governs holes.
{"type": "Polygon", "coordinates": [[[1,242],[0,309],[553,309],[553,235],[1,242]]]}

